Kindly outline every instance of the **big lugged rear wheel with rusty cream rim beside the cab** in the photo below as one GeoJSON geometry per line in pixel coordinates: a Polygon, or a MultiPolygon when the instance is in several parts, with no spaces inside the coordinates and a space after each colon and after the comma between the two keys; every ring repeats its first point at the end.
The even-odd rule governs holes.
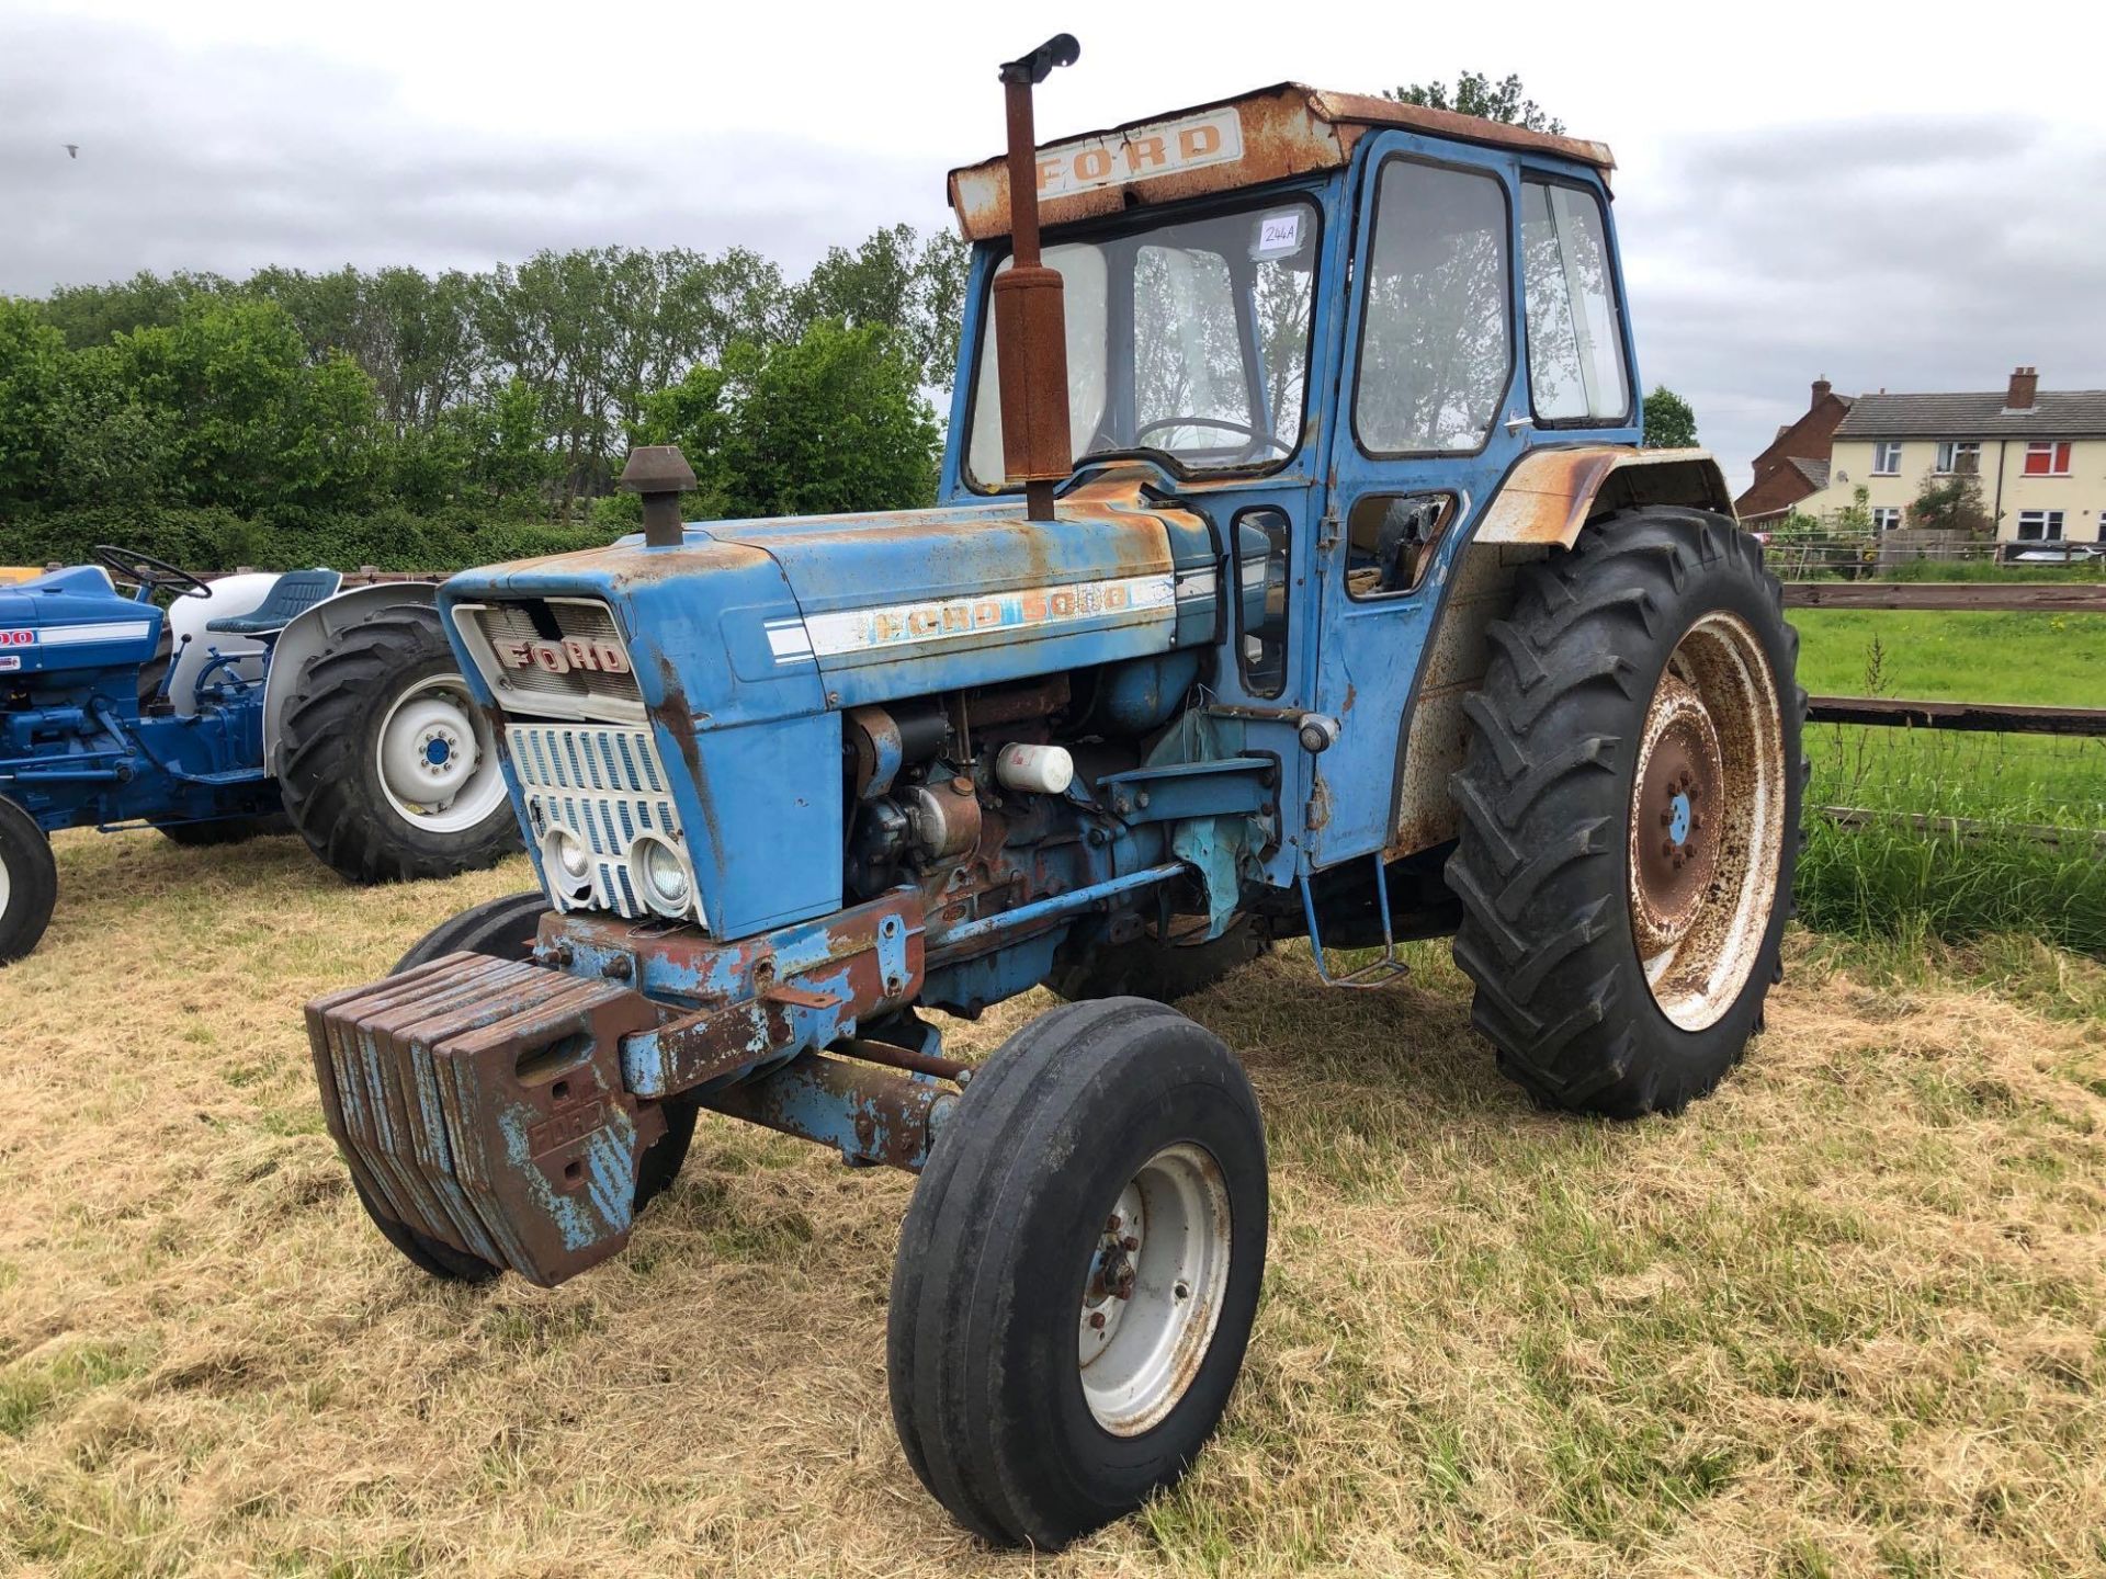
{"type": "Polygon", "coordinates": [[[1805,785],[1799,636],[1761,545],[1647,507],[1523,568],[1453,779],[1455,962],[1539,1101],[1681,1112],[1761,1027],[1805,785]]]}

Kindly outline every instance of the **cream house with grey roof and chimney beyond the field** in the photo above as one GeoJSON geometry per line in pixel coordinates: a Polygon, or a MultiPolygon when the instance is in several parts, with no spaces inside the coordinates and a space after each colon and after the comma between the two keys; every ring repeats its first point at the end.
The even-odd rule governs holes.
{"type": "MultiPolygon", "coordinates": [[[[1820,516],[1864,488],[1885,531],[1908,520],[1927,478],[1963,472],[1982,478],[2001,543],[2106,541],[2106,389],[2041,389],[2039,371],[2022,366],[1986,394],[1857,396],[1834,427],[1824,486],[1792,507],[1820,516]]],[[[1759,488],[1761,474],[1748,493],[1759,488]]]]}

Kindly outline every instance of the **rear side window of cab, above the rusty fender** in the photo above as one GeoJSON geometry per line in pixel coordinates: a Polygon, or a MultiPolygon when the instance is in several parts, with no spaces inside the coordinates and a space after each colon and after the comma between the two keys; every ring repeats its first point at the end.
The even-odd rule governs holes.
{"type": "Polygon", "coordinates": [[[1535,419],[1626,421],[1624,326],[1609,269],[1609,227],[1592,192],[1556,181],[1521,183],[1521,291],[1535,419]]]}

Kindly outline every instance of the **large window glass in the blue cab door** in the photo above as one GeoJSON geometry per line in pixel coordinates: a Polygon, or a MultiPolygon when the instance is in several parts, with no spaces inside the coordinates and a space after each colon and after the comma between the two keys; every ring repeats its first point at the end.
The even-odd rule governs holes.
{"type": "Polygon", "coordinates": [[[1367,453],[1485,448],[1512,377],[1506,225],[1491,175],[1382,166],[1352,394],[1367,453]]]}

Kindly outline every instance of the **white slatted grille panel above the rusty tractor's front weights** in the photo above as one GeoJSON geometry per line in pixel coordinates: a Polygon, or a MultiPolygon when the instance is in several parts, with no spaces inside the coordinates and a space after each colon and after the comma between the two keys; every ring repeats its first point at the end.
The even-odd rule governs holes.
{"type": "Polygon", "coordinates": [[[541,848],[552,827],[567,827],[592,855],[590,888],[575,891],[564,891],[562,874],[543,859],[556,907],[611,910],[628,918],[651,916],[630,880],[630,844],[649,830],[687,853],[672,802],[672,781],[659,762],[651,731],[505,724],[505,747],[526,800],[526,825],[535,848],[541,848]]]}

